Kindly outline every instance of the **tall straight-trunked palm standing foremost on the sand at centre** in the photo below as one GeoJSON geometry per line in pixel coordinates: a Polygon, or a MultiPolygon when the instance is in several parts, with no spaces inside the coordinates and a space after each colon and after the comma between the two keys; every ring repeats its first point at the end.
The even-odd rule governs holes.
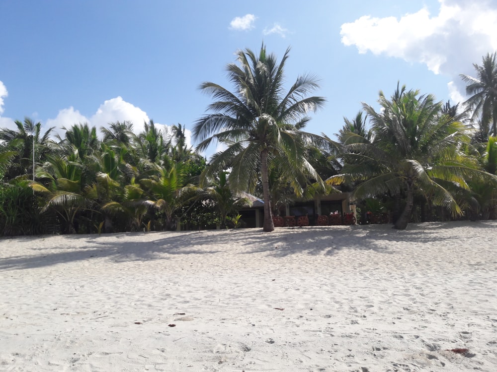
{"type": "MultiPolygon", "coordinates": [[[[277,163],[294,175],[321,180],[305,156],[305,149],[319,136],[301,131],[309,122],[306,115],[325,103],[322,97],[307,97],[319,87],[313,75],[299,76],[285,93],[284,68],[290,49],[281,62],[266,53],[262,44],[257,56],[250,49],[237,52],[239,64],[227,65],[234,93],[222,86],[204,82],[200,88],[216,101],[209,105],[213,113],[194,125],[197,149],[205,150],[217,140],[226,149],[214,154],[204,178],[231,168],[229,184],[235,191],[251,191],[259,176],[264,199],[264,231],[274,230],[272,221],[268,164],[277,163]]],[[[321,137],[320,137],[321,138],[321,137]]],[[[295,188],[303,189],[301,178],[293,178],[295,188]]]]}

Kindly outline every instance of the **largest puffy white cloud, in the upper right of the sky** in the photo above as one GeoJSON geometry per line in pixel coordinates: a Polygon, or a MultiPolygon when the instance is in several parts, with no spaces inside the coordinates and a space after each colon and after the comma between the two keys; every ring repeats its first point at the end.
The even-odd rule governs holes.
{"type": "MultiPolygon", "coordinates": [[[[424,63],[435,74],[454,77],[473,73],[473,63],[497,50],[497,1],[439,0],[437,14],[423,7],[396,17],[365,15],[341,26],[341,42],[359,53],[401,58],[424,63]]],[[[457,78],[456,78],[457,77],[457,78]]]]}

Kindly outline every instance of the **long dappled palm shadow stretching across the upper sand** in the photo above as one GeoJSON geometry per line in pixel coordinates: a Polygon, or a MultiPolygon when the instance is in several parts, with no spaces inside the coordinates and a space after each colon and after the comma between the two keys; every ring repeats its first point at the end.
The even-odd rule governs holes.
{"type": "Polygon", "coordinates": [[[434,239],[457,239],[456,235],[449,238],[437,237],[436,232],[440,229],[456,229],[461,226],[479,229],[479,231],[480,229],[494,231],[496,224],[492,222],[424,223],[411,224],[406,230],[395,230],[390,225],[366,225],[278,228],[274,233],[263,233],[260,229],[237,229],[101,236],[67,235],[57,237],[59,238],[57,247],[48,248],[37,248],[37,246],[40,246],[42,240],[51,239],[50,236],[10,238],[0,240],[0,271],[44,267],[97,258],[111,259],[116,263],[167,260],[171,255],[176,254],[194,256],[226,253],[230,250],[234,254],[266,252],[272,257],[285,257],[292,254],[331,256],[343,249],[374,250],[378,253],[389,254],[392,251],[388,242],[422,244],[433,242],[434,239]],[[1,257],[2,245],[25,245],[26,243],[32,243],[30,249],[36,250],[36,254],[1,257]]]}

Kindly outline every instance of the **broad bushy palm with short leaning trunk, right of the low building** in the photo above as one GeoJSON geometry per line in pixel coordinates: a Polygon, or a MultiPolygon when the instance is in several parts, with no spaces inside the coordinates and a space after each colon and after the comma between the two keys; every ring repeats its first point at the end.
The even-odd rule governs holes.
{"type": "Polygon", "coordinates": [[[390,194],[405,195],[406,204],[395,228],[405,229],[409,222],[414,192],[422,192],[435,205],[447,207],[453,215],[462,208],[454,194],[469,189],[466,180],[493,179],[477,169],[477,164],[459,151],[469,141],[468,128],[443,114],[442,104],[432,95],[417,90],[397,90],[391,99],[380,92],[382,110],[376,112],[367,104],[364,111],[371,118],[373,140],[344,145],[347,152],[343,174],[329,182],[357,182],[356,198],[390,194]]]}

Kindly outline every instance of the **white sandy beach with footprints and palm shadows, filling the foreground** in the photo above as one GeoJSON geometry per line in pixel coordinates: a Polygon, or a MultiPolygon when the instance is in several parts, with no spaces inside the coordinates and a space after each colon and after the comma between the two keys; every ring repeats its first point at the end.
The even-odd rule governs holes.
{"type": "Polygon", "coordinates": [[[497,221],[4,238],[0,370],[495,372],[496,242],[497,221]]]}

